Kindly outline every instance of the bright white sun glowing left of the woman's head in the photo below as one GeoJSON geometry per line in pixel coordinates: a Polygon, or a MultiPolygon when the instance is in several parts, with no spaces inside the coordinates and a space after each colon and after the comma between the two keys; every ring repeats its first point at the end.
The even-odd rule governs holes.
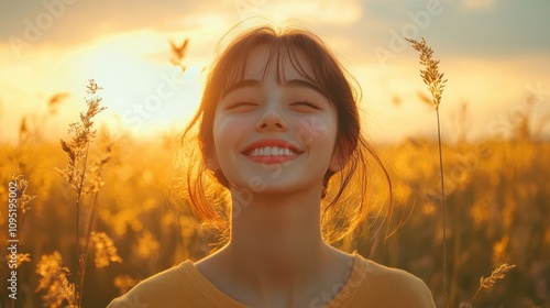
{"type": "Polygon", "coordinates": [[[100,95],[111,114],[105,121],[108,127],[153,135],[183,127],[198,108],[204,62],[184,62],[185,69],[173,65],[163,37],[111,38],[89,47],[79,58],[79,79],[94,78],[103,88],[100,95]]]}

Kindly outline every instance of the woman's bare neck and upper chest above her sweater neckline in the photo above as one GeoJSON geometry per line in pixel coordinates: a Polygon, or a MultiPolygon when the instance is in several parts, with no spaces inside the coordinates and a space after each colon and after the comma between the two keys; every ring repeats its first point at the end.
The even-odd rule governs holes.
{"type": "Polygon", "coordinates": [[[251,307],[309,307],[319,294],[345,282],[353,260],[322,240],[320,195],[319,189],[241,198],[248,204],[233,204],[229,243],[197,267],[251,307]]]}

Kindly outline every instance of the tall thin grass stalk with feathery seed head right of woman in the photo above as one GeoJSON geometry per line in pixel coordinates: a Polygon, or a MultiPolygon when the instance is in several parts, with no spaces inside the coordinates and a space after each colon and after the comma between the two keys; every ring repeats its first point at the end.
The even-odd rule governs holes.
{"type": "Polygon", "coordinates": [[[433,50],[426,43],[424,37],[420,42],[413,38],[405,38],[413,44],[420,54],[420,64],[425,69],[420,69],[420,77],[430,90],[436,116],[438,119],[438,145],[439,145],[439,170],[441,177],[441,204],[443,216],[443,293],[446,298],[446,307],[449,306],[447,294],[447,221],[446,221],[446,191],[444,191],[444,176],[443,176],[443,154],[441,151],[441,124],[439,120],[439,105],[441,103],[441,96],[447,79],[443,79],[443,73],[439,73],[439,59],[433,59],[433,50]]]}

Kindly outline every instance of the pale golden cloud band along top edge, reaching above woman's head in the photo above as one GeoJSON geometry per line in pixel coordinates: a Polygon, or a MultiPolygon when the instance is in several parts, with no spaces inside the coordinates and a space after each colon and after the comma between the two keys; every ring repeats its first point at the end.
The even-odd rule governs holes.
{"type": "Polygon", "coordinates": [[[173,32],[215,22],[229,30],[252,15],[274,21],[301,20],[324,25],[348,25],[362,18],[359,0],[319,1],[9,1],[0,4],[0,42],[13,37],[29,45],[88,44],[129,31],[173,32]]]}

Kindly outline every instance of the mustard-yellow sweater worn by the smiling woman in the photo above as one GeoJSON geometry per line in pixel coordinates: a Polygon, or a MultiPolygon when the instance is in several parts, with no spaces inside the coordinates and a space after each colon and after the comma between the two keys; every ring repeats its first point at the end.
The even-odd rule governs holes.
{"type": "MultiPolygon", "coordinates": [[[[354,254],[352,273],[337,290],[312,298],[309,308],[436,307],[430,290],[416,276],[354,254]]],[[[336,286],[337,287],[337,286],[336,286]]],[[[158,273],[116,298],[108,308],[222,307],[244,308],[213,286],[190,261],[158,273]]]]}

